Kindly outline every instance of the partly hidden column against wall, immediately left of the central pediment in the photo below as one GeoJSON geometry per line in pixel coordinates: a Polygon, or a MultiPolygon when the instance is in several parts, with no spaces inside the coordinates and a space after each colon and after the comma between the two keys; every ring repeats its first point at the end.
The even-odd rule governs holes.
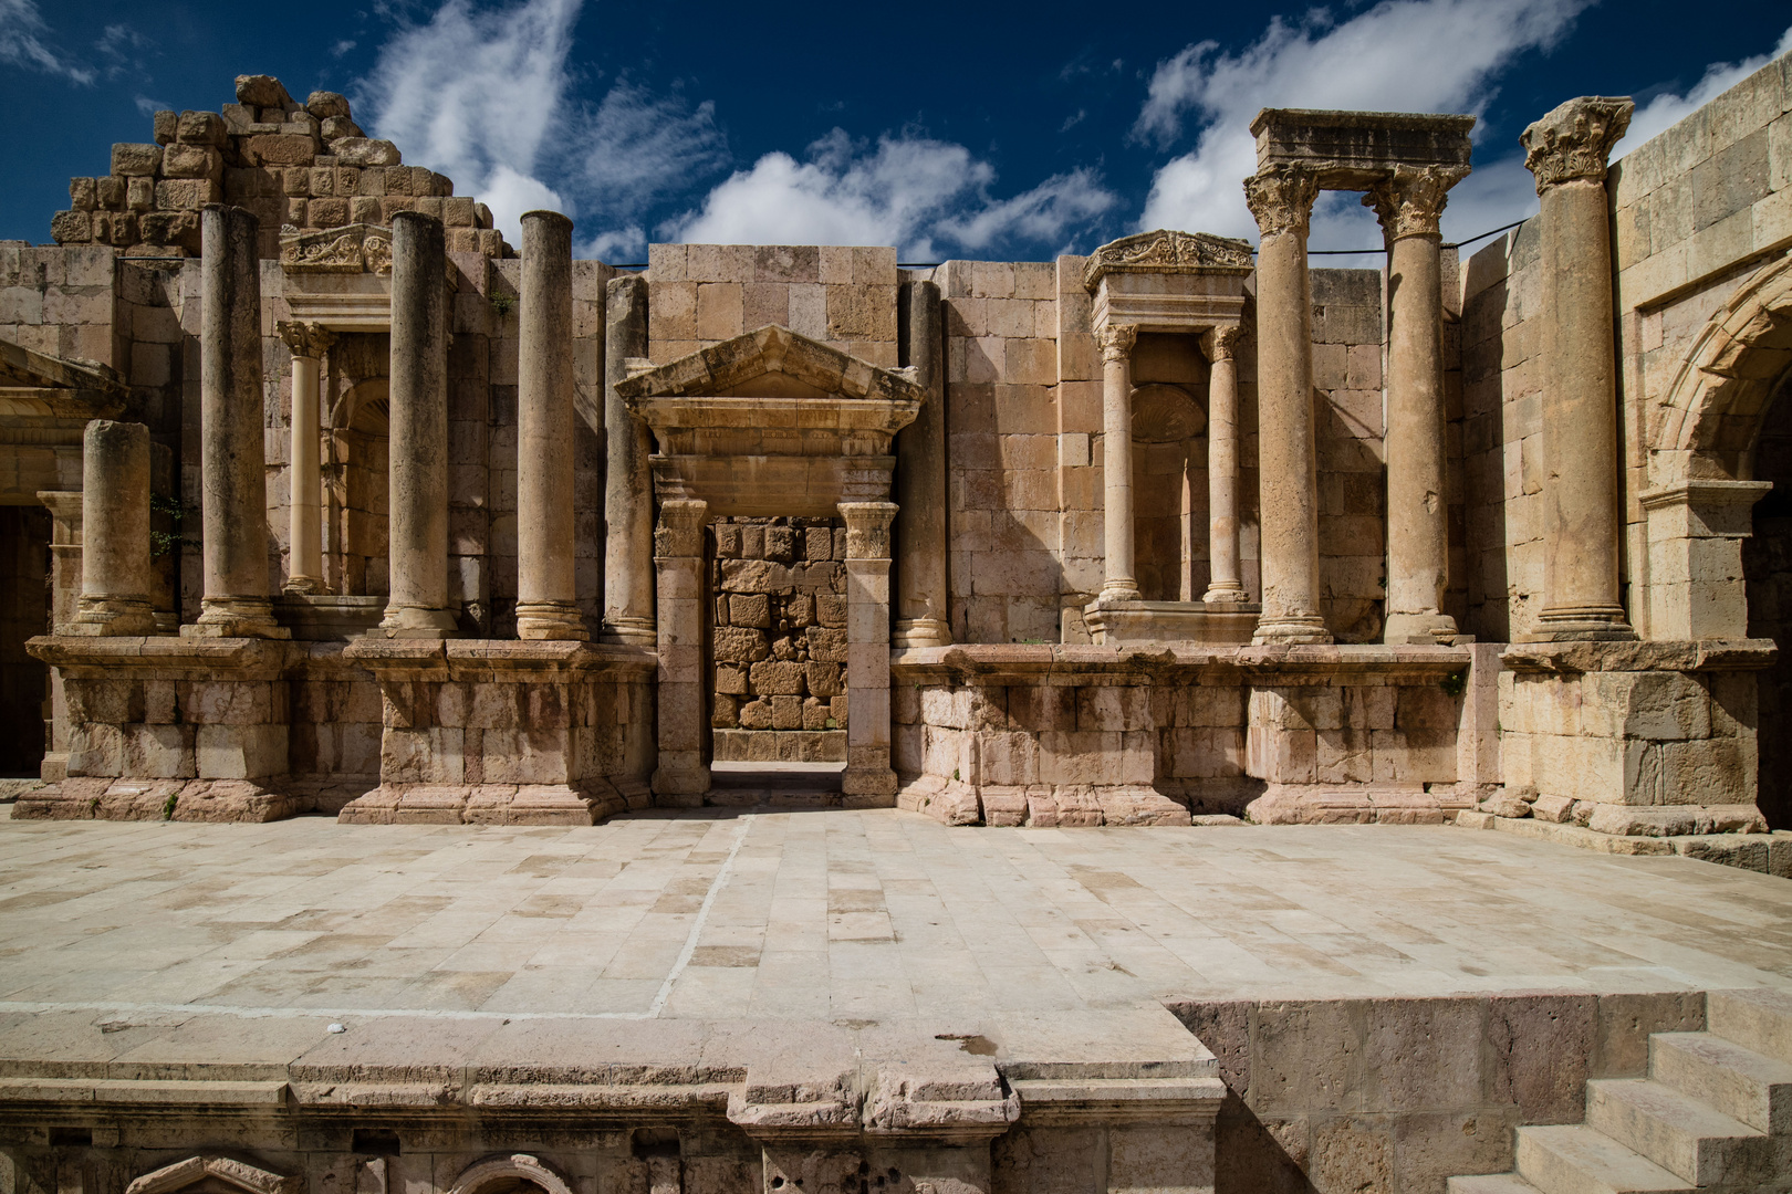
{"type": "MultiPolygon", "coordinates": [[[[647,279],[604,286],[604,641],[652,646],[654,630],[654,437],[616,397],[629,358],[647,356],[647,279]]],[[[708,782],[708,780],[704,780],[708,782]]]]}

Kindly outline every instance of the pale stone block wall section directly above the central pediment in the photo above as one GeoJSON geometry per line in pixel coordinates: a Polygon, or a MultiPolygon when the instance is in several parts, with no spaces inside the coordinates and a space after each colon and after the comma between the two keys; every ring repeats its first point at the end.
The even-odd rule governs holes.
{"type": "Polygon", "coordinates": [[[656,365],[783,324],[894,369],[894,249],[835,245],[649,245],[647,342],[656,365]]]}

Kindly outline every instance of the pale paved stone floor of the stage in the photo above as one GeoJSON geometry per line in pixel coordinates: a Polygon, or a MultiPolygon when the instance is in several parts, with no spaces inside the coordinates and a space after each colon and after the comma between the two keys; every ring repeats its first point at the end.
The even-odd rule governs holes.
{"type": "Polygon", "coordinates": [[[0,822],[0,1013],[871,1022],[1792,986],[1792,883],[1453,827],[0,822]]]}

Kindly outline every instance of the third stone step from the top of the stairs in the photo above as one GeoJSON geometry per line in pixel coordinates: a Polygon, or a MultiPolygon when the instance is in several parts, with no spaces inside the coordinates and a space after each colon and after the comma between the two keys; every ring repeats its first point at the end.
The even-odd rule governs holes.
{"type": "Polygon", "coordinates": [[[1586,1085],[1586,1126],[1692,1181],[1736,1181],[1760,1169],[1767,1135],[1650,1078],[1586,1085]]]}

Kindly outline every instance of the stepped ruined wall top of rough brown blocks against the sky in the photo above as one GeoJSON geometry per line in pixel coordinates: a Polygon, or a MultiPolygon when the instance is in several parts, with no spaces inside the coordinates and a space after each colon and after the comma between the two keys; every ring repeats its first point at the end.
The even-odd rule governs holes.
{"type": "Polygon", "coordinates": [[[154,141],[113,145],[108,175],[70,179],[50,235],[134,258],[199,256],[208,202],[253,211],[263,258],[280,256],[281,227],[389,226],[398,211],[439,218],[450,252],[514,256],[486,204],[403,165],[396,145],[362,132],[344,97],[312,91],[299,104],[271,75],[238,75],[237,102],[215,113],[156,113],[154,141]]]}

